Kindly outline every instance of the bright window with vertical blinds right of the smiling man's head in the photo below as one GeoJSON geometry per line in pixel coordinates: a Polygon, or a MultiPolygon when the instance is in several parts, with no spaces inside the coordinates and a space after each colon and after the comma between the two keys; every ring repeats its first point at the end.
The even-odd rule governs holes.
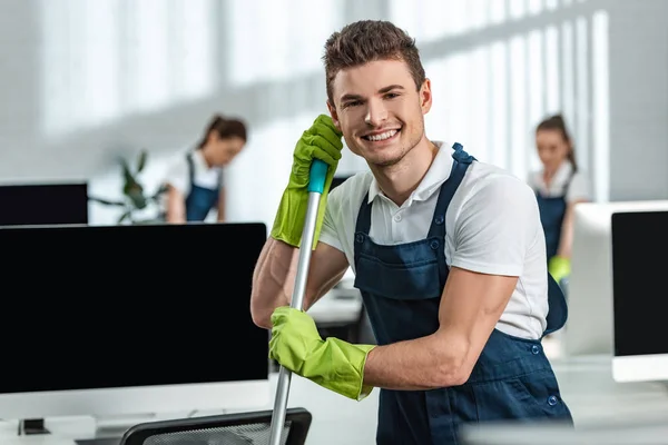
{"type": "Polygon", "coordinates": [[[525,178],[533,131],[561,112],[593,195],[608,199],[607,13],[557,0],[391,0],[390,20],[416,38],[434,106],[428,136],[525,178]],[[593,81],[596,79],[596,81],[593,81]],[[596,165],[593,164],[596,161],[596,165]]]}

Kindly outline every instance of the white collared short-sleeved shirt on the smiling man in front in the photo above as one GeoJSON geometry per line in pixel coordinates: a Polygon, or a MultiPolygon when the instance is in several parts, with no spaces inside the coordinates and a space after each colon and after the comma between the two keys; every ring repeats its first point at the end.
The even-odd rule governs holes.
{"type": "MultiPolygon", "coordinates": [[[[342,250],[354,271],[355,224],[367,191],[370,201],[374,200],[369,234],[374,243],[424,239],[440,187],[450,176],[452,151],[439,150],[424,179],[401,207],[382,194],[371,171],[348,178],[327,198],[320,241],[342,250]]],[[[547,325],[548,270],[533,190],[505,170],[474,161],[450,202],[445,230],[449,266],[519,277],[497,328],[522,338],[540,338],[547,325]]]]}

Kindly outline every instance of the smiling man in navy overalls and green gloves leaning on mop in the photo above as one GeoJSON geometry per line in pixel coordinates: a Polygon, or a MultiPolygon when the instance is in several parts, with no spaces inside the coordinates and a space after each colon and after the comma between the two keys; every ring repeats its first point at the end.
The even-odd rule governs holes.
{"type": "Polygon", "coordinates": [[[456,443],[471,422],[570,423],[540,343],[566,312],[551,293],[547,319],[558,286],[532,190],[460,145],[428,139],[431,83],[414,41],[392,23],[346,26],[324,61],[331,118],[295,147],[253,280],[252,314],[272,328],[272,357],[354,399],[380,387],[379,444],[456,443]],[[327,197],[342,136],[371,171],[327,197]],[[323,340],[306,313],[287,307],[313,159],[330,170],[304,309],[351,265],[377,346],[323,340]]]}

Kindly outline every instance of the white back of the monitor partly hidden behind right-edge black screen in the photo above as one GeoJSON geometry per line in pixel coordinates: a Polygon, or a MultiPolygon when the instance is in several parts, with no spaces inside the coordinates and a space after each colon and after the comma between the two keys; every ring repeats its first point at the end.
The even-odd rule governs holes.
{"type": "Polygon", "coordinates": [[[612,214],[654,210],[668,210],[668,200],[582,202],[574,207],[568,322],[560,340],[566,356],[612,357],[612,214]]]}

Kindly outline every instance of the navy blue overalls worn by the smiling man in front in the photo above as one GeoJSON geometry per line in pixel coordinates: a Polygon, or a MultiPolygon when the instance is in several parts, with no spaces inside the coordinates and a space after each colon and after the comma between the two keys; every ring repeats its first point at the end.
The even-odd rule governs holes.
{"type": "MultiPolygon", "coordinates": [[[[453,148],[452,171],[441,186],[425,239],[375,244],[369,236],[373,202],[367,202],[369,195],[362,201],[355,227],[355,287],[362,293],[379,345],[424,337],[439,328],[439,305],[449,273],[445,212],[474,160],[461,145],[453,148]]],[[[563,294],[549,279],[546,334],[561,328],[567,318],[563,294]]],[[[381,389],[376,443],[456,444],[463,423],[547,418],[572,423],[541,342],[494,329],[465,384],[431,390],[381,389]]]]}

